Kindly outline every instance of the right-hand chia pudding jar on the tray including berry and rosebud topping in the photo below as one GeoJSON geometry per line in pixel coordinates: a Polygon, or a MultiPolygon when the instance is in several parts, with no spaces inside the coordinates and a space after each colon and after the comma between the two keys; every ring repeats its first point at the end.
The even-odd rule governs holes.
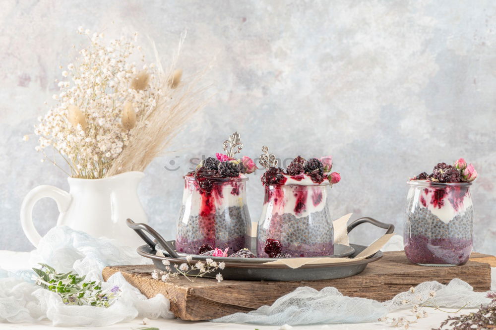
{"type": "MultiPolygon", "coordinates": [[[[334,252],[334,230],[328,206],[332,159],[298,156],[286,171],[267,166],[257,229],[257,256],[317,257],[334,252]]],[[[338,173],[336,173],[339,175],[338,173]]]]}

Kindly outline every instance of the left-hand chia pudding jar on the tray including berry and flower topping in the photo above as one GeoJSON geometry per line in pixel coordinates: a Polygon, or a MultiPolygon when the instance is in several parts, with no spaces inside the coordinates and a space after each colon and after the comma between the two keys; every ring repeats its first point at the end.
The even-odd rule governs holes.
{"type": "MultiPolygon", "coordinates": [[[[251,220],[245,174],[254,163],[217,154],[184,176],[183,205],[176,231],[176,250],[207,253],[212,247],[230,253],[249,246],[251,220]]],[[[256,168],[256,167],[255,167],[256,168]]]]}

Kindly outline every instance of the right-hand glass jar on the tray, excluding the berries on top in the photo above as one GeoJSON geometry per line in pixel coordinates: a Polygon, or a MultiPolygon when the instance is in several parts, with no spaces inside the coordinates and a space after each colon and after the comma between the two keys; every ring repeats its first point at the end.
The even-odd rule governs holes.
{"type": "Polygon", "coordinates": [[[257,228],[258,257],[316,257],[334,252],[334,230],[326,180],[320,184],[264,185],[265,198],[257,228]],[[270,255],[277,240],[278,255],[270,255]],[[267,251],[269,253],[267,253],[267,251]]]}

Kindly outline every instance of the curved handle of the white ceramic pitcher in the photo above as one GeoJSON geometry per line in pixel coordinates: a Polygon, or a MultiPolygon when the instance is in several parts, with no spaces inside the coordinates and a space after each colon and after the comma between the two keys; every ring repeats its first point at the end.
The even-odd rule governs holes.
{"type": "Polygon", "coordinates": [[[21,225],[22,230],[24,230],[24,234],[35,247],[38,247],[41,236],[33,224],[33,207],[36,202],[44,197],[50,197],[57,203],[57,208],[61,213],[59,220],[57,220],[57,225],[61,224],[59,222],[62,219],[62,215],[67,212],[71,201],[71,196],[68,192],[49,185],[42,185],[33,188],[26,195],[21,205],[21,225]]]}

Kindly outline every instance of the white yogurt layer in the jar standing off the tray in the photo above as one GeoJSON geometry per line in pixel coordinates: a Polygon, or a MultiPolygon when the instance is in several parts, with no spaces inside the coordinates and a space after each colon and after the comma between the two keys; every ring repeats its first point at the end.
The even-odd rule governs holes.
{"type": "Polygon", "coordinates": [[[449,223],[449,221],[453,220],[454,217],[459,214],[465,213],[465,211],[467,211],[467,209],[472,206],[472,198],[470,197],[470,192],[467,192],[467,194],[459,203],[458,210],[455,210],[451,202],[448,200],[448,197],[450,196],[449,189],[450,188],[447,188],[447,192],[446,194],[444,194],[444,197],[441,200],[442,206],[439,208],[439,205],[434,205],[433,203],[431,203],[431,201],[433,200],[435,188],[427,188],[426,192],[424,188],[415,189],[414,187],[410,187],[407,195],[407,200],[410,200],[410,198],[414,199],[411,212],[413,213],[415,211],[415,208],[417,207],[417,204],[419,204],[420,207],[426,207],[434,216],[439,218],[439,220],[441,220],[442,222],[449,223]],[[422,204],[422,198],[426,201],[426,206],[422,204]]]}

